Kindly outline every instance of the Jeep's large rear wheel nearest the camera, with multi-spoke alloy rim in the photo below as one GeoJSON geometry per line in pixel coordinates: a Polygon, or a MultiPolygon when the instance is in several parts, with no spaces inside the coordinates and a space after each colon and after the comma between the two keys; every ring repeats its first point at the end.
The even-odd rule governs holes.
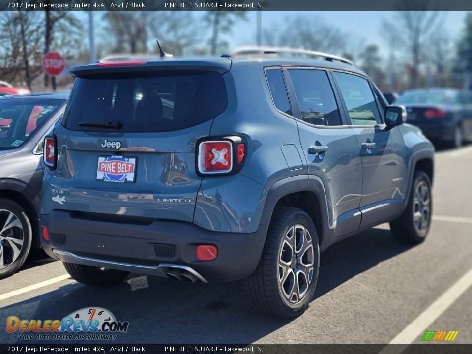
{"type": "Polygon", "coordinates": [[[306,310],[313,298],[319,268],[320,247],[316,228],[311,218],[301,209],[278,207],[274,211],[259,265],[255,272],[245,279],[244,286],[255,307],[263,314],[278,318],[294,318],[306,310]],[[287,235],[291,231],[293,233],[292,237],[288,239],[287,235]],[[301,236],[302,233],[303,236],[301,236]],[[303,243],[300,245],[297,240],[302,238],[303,243]],[[294,244],[290,245],[289,241],[292,242],[292,240],[294,244]],[[309,250],[310,242],[313,246],[311,251],[309,250]],[[295,252],[291,247],[295,247],[295,252]],[[299,247],[298,255],[297,247],[299,247]],[[304,249],[305,247],[306,249],[304,249]],[[292,252],[292,256],[290,256],[290,252],[292,252]],[[282,261],[282,259],[288,260],[289,258],[291,259],[290,266],[280,266],[279,261],[282,261]],[[303,259],[304,264],[312,263],[312,265],[304,267],[298,264],[301,259],[303,259]],[[300,270],[303,274],[299,273],[300,270]],[[299,278],[299,275],[297,275],[296,279],[302,279],[302,281],[295,280],[295,271],[301,277],[299,278]],[[281,272],[284,274],[281,275],[281,272]],[[285,278],[285,272],[290,276],[285,278]],[[311,280],[308,280],[310,272],[311,280]],[[293,278],[292,274],[294,274],[293,278]],[[282,277],[282,279],[279,277],[282,277]],[[292,279],[294,283],[290,285],[292,279]],[[296,295],[297,302],[291,302],[295,295],[290,289],[298,291],[296,295]],[[304,290],[301,292],[300,289],[304,290]],[[287,296],[286,293],[289,293],[289,295],[287,296]]]}

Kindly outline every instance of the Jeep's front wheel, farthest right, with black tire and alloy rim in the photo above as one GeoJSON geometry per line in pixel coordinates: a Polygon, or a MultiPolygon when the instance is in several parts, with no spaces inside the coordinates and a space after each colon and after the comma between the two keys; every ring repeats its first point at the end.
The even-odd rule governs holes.
{"type": "Polygon", "coordinates": [[[423,242],[426,236],[428,236],[429,228],[431,226],[431,215],[433,212],[432,205],[431,181],[426,173],[423,171],[416,171],[413,179],[412,190],[410,191],[408,206],[398,219],[390,223],[390,230],[393,237],[402,243],[418,244],[423,242]],[[424,210],[421,209],[418,202],[415,202],[415,194],[418,193],[420,184],[423,188],[427,188],[427,191],[424,193],[428,194],[427,206],[422,206],[424,210]],[[419,215],[418,213],[423,215],[424,219],[421,217],[417,218],[418,223],[415,226],[415,215],[419,215]]]}

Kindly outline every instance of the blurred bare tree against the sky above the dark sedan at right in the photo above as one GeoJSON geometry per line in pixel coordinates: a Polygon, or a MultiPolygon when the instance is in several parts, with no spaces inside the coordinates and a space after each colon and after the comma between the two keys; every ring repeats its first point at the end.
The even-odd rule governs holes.
{"type": "Polygon", "coordinates": [[[419,67],[425,60],[425,44],[438,29],[441,16],[437,11],[426,11],[426,5],[414,0],[404,1],[401,9],[404,11],[396,11],[391,19],[383,21],[383,29],[404,53],[406,65],[410,69],[410,88],[415,88],[418,85],[419,67]]]}

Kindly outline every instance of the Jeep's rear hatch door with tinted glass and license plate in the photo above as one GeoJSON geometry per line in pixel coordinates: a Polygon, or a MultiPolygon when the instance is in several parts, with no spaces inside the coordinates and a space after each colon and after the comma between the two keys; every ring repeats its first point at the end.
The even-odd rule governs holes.
{"type": "Polygon", "coordinates": [[[55,130],[55,208],[191,222],[202,178],[196,143],[227,106],[222,71],[78,71],[55,130]]]}

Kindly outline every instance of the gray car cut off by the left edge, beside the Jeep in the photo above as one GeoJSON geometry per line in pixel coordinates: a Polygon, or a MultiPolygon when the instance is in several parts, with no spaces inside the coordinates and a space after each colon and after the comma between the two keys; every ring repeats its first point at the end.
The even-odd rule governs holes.
{"type": "Polygon", "coordinates": [[[44,136],[68,94],[0,98],[0,278],[15,273],[40,247],[39,207],[44,136]]]}

